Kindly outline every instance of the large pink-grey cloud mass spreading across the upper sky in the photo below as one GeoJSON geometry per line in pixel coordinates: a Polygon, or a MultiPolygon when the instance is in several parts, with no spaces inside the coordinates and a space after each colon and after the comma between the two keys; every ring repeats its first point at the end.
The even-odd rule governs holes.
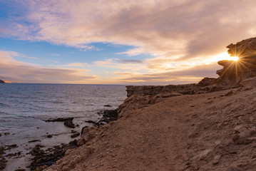
{"type": "MultiPolygon", "coordinates": [[[[147,54],[148,58],[143,61],[108,58],[93,63],[140,75],[127,78],[128,81],[162,83],[166,79],[174,83],[181,78],[178,73],[188,71],[193,73],[190,78],[201,77],[201,73],[208,74],[208,68],[201,66],[215,63],[214,56],[224,53],[225,46],[255,36],[256,1],[250,0],[26,0],[19,3],[26,10],[21,11],[22,16],[3,19],[1,36],[48,41],[81,51],[98,50],[91,45],[95,42],[133,46],[118,54],[128,57],[147,54]]],[[[215,76],[215,71],[211,72],[215,76]]],[[[187,75],[183,78],[188,78],[187,75]]]]}

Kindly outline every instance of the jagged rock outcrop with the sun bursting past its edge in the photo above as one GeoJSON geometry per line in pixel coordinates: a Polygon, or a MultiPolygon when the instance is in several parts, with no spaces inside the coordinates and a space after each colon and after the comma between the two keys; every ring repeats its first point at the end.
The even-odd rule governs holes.
{"type": "Polygon", "coordinates": [[[230,56],[237,56],[238,61],[218,61],[221,70],[217,71],[219,83],[226,85],[239,85],[240,81],[256,76],[256,38],[231,43],[227,46],[230,56]]]}

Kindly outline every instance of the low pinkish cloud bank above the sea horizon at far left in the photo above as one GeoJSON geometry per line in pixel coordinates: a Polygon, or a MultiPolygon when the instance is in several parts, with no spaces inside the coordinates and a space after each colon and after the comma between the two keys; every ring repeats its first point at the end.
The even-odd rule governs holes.
{"type": "Polygon", "coordinates": [[[0,51],[0,76],[9,82],[22,83],[89,83],[97,76],[90,76],[86,69],[46,68],[32,63],[16,61],[18,53],[0,51]]]}

